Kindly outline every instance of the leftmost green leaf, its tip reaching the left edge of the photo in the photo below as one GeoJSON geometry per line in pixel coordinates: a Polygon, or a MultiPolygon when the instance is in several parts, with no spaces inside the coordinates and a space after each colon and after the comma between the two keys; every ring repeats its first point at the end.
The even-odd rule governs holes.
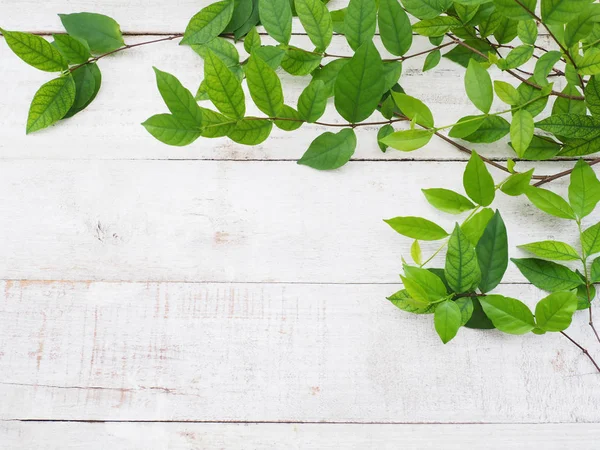
{"type": "Polygon", "coordinates": [[[30,66],[45,72],[61,72],[67,60],[50,42],[41,36],[0,28],[10,49],[30,66]]]}

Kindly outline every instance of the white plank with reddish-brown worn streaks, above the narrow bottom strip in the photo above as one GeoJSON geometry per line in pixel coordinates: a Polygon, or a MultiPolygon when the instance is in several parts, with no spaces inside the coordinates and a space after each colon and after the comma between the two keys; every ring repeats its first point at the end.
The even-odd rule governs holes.
{"type": "MultiPolygon", "coordinates": [[[[600,420],[598,373],[562,336],[465,329],[444,346],[395,289],[2,282],[0,419],[600,420]]],[[[569,333],[592,346],[586,322],[569,333]]]]}

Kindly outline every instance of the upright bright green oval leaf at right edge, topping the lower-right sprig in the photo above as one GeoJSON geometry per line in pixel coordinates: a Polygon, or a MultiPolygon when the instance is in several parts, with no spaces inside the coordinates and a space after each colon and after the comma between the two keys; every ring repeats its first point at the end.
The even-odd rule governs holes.
{"type": "Polygon", "coordinates": [[[594,211],[600,202],[600,181],[594,170],[583,159],[577,161],[571,172],[569,202],[580,219],[594,211]]]}

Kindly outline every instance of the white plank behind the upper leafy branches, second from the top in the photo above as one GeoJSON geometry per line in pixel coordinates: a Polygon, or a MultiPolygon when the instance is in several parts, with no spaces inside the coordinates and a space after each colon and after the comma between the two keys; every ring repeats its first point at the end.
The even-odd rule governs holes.
{"type": "MultiPolygon", "coordinates": [[[[155,37],[130,37],[128,42],[139,43],[155,37]]],[[[304,48],[312,48],[306,37],[296,36],[294,43],[304,48]]],[[[378,43],[380,48],[382,46],[378,43]]],[[[2,44],[4,46],[4,44],[2,44]]],[[[431,48],[427,39],[417,38],[411,53],[431,48]]],[[[6,48],[4,47],[6,50],[6,48]]],[[[241,50],[241,46],[240,46],[241,50]]],[[[8,51],[8,50],[6,50],[8,51]]],[[[332,54],[350,55],[343,37],[336,37],[330,49],[332,54]]],[[[382,54],[388,56],[382,49],[382,54]]],[[[455,123],[461,117],[476,114],[464,91],[464,69],[444,59],[435,69],[423,73],[424,56],[410,59],[404,64],[401,79],[407,92],[422,99],[431,107],[439,126],[455,123]],[[432,89],[432,86],[438,88],[432,89]]],[[[6,63],[0,66],[0,77],[6,86],[0,107],[0,158],[19,159],[275,159],[297,160],[306,151],[312,140],[326,128],[305,125],[301,130],[285,133],[274,130],[271,138],[262,145],[246,147],[223,138],[217,140],[200,139],[185,148],[166,146],[140,125],[153,114],[167,111],[155,86],[154,72],[157,66],[176,74],[193,92],[202,80],[201,59],[189,48],[179,47],[176,42],[164,42],[147,47],[139,47],[122,52],[100,62],[103,71],[103,86],[98,98],[83,113],[61,122],[57,126],[25,135],[25,123],[30,99],[39,86],[51,75],[26,66],[15,55],[6,55],[6,63]]],[[[495,79],[514,81],[509,75],[493,71],[495,79]]],[[[292,77],[281,73],[285,86],[287,103],[295,106],[296,101],[309,77],[292,77]]],[[[560,81],[556,89],[560,89],[560,81]]],[[[252,105],[247,96],[249,114],[263,116],[252,105]]],[[[332,103],[332,101],[330,102],[332,103]]],[[[552,104],[552,102],[550,102],[552,104]]],[[[506,109],[499,101],[496,110],[506,109]]],[[[375,113],[370,121],[380,121],[382,116],[375,113]]],[[[335,112],[333,104],[322,121],[340,123],[342,119],[335,112]]],[[[407,125],[398,125],[398,129],[407,125]]],[[[466,159],[441,139],[434,138],[423,150],[403,153],[390,150],[382,153],[377,145],[377,126],[357,129],[359,145],[355,159],[466,159]]],[[[506,159],[514,156],[507,145],[508,137],[492,145],[477,145],[483,155],[506,159]]],[[[474,147],[466,144],[467,147],[474,147]]]]}

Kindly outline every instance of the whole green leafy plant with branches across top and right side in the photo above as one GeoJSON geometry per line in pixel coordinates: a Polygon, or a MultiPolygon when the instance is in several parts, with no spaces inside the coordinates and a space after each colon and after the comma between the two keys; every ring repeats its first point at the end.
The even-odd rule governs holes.
{"type": "MultiPolygon", "coordinates": [[[[57,74],[34,95],[27,133],[83,111],[100,90],[103,58],[178,40],[203,59],[204,77],[190,91],[175,75],[154,68],[169,112],[151,116],[143,126],[165,144],[228,138],[258,145],[273,127],[293,132],[312,123],[324,131],[298,163],[333,170],[352,158],[357,127],[378,127],[383,152],[417,151],[434,139],[449,143],[470,155],[465,192],[432,188],[423,194],[438,210],[465,217],[453,230],[421,217],[386,220],[414,240],[411,262],[403,261],[403,289],[389,300],[410,313],[432,314],[444,343],[461,327],[562,333],[600,372],[588,351],[565,333],[576,311],[587,310],[592,336],[600,342],[592,320],[595,284],[600,283],[600,222],[594,215],[600,182],[592,166],[600,159],[590,156],[600,151],[600,4],[350,0],[347,7],[330,10],[327,3],[217,1],[192,17],[185,33],[135,44],[125,43],[114,19],[95,13],[60,15],[66,33],[51,41],[0,31],[23,61],[57,74]],[[304,29],[309,46],[296,44],[294,26],[304,29]],[[345,37],[351,51],[329,52],[335,34],[345,37]],[[427,50],[411,50],[413,43],[427,40],[427,50]],[[402,87],[403,62],[412,58],[423,59],[423,71],[442,58],[462,66],[473,113],[451,124],[437,123],[429,107],[402,87]],[[286,101],[282,71],[306,80],[295,104],[286,101]],[[501,73],[512,82],[492,79],[501,73]],[[250,101],[260,115],[247,114],[250,101]],[[330,103],[339,119],[323,122],[330,103]],[[512,158],[488,159],[475,151],[501,140],[508,142],[512,158]],[[572,168],[556,174],[538,174],[535,163],[533,169],[520,168],[524,161],[557,158],[570,161],[572,168]],[[505,173],[504,179],[495,180],[490,166],[505,173]],[[568,198],[546,189],[567,177],[568,198]],[[492,208],[498,195],[527,197],[540,210],[537,217],[552,216],[561,232],[579,238],[576,247],[554,240],[523,245],[531,257],[512,259],[530,283],[548,292],[534,311],[496,292],[509,266],[507,229],[500,211],[492,208]],[[439,241],[439,249],[425,257],[423,241],[439,241]],[[438,260],[443,267],[430,267],[438,260]]],[[[443,92],[445,86],[431,89],[443,92]]]]}

